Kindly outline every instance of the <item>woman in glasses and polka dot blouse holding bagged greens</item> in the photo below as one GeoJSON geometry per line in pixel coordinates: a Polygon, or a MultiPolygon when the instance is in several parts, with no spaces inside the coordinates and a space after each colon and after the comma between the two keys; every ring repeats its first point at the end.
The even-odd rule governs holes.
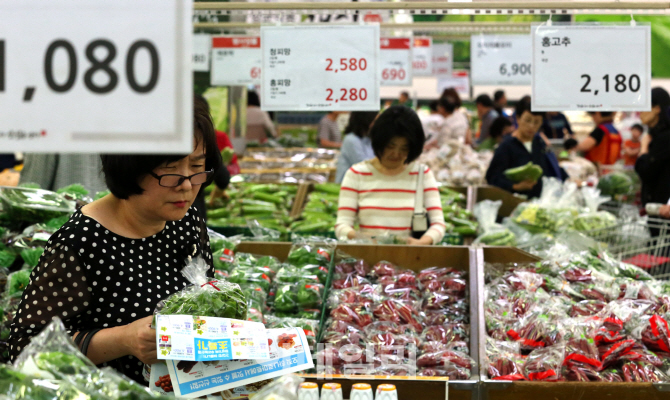
{"type": "Polygon", "coordinates": [[[194,107],[187,155],[102,157],[111,194],[75,212],[49,240],[14,318],[14,359],[53,317],[95,364],[143,382],[156,362],[156,304],[188,284],[189,258],[212,264],[204,221],[191,207],[221,166],[212,121],[194,107]]]}

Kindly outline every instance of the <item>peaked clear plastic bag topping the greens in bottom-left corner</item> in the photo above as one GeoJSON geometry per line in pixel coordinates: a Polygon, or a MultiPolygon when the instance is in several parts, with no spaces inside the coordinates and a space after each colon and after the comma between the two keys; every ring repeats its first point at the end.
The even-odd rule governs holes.
{"type": "Polygon", "coordinates": [[[54,318],[33,337],[14,360],[14,367],[28,375],[63,379],[67,375],[88,375],[97,369],[72,342],[63,322],[54,318]]]}

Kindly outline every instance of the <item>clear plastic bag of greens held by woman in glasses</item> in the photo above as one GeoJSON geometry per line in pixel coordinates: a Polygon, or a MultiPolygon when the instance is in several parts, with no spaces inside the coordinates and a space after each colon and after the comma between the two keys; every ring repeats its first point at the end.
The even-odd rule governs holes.
{"type": "Polygon", "coordinates": [[[155,314],[198,315],[247,319],[247,301],[239,285],[207,277],[209,266],[202,258],[184,267],[182,274],[191,285],[161,300],[155,314]]]}

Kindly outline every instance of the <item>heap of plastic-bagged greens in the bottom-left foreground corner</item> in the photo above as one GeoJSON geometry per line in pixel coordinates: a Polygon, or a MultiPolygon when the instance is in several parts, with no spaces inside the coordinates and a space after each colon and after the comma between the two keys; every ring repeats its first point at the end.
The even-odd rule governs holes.
{"type": "Polygon", "coordinates": [[[96,368],[72,343],[58,318],[33,338],[14,366],[0,364],[0,393],[8,399],[30,400],[169,399],[111,368],[96,368]]]}

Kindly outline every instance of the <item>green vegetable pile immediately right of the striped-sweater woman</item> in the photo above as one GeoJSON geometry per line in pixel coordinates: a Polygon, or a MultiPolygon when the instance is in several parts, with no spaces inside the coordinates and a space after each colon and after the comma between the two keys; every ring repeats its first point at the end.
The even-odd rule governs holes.
{"type": "Polygon", "coordinates": [[[446,186],[441,186],[440,199],[442,200],[444,221],[447,225],[447,235],[443,239],[443,244],[463,244],[462,240],[454,242],[452,235],[461,238],[475,236],[478,223],[472,213],[466,209],[466,196],[446,186]]]}

